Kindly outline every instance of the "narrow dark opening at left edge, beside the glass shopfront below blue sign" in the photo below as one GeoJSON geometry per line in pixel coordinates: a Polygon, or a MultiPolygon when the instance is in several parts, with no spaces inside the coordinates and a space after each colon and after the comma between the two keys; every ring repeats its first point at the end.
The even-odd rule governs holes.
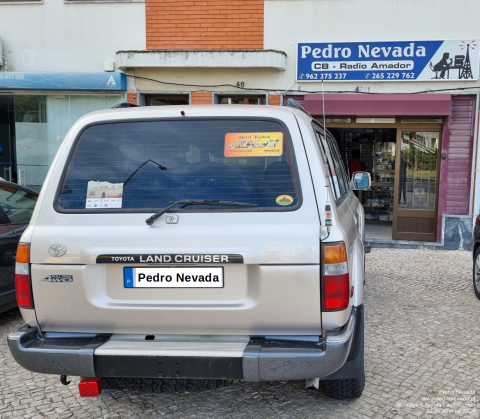
{"type": "Polygon", "coordinates": [[[0,177],[16,182],[13,170],[15,117],[13,95],[0,95],[0,177]]]}

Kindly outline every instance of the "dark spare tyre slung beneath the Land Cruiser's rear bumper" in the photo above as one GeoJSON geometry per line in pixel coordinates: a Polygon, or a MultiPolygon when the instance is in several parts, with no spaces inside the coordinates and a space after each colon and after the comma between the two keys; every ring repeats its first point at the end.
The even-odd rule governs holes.
{"type": "Polygon", "coordinates": [[[198,393],[231,384],[232,380],[194,380],[188,378],[131,378],[117,377],[121,388],[141,393],[198,393]]]}

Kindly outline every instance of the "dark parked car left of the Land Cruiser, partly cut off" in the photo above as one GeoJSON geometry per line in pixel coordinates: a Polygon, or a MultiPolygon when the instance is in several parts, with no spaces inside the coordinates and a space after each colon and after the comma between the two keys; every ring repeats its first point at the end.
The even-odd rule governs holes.
{"type": "Polygon", "coordinates": [[[17,306],[15,255],[37,198],[38,192],[25,186],[0,181],[0,313],[17,306]]]}

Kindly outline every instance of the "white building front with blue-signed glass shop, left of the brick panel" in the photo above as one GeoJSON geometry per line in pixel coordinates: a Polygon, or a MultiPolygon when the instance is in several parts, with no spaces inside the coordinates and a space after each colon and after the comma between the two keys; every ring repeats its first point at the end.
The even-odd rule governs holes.
{"type": "Polygon", "coordinates": [[[0,1],[0,38],[0,176],[40,189],[73,122],[125,101],[115,53],[144,48],[145,5],[0,1]]]}

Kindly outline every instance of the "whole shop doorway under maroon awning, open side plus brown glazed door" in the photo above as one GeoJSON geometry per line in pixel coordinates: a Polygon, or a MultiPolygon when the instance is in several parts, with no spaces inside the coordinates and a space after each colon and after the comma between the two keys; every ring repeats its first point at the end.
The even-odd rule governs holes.
{"type": "Polygon", "coordinates": [[[435,241],[441,124],[391,119],[390,126],[331,127],[327,122],[327,128],[347,170],[349,162],[360,160],[371,174],[371,189],[357,194],[365,211],[366,239],[435,241]]]}

